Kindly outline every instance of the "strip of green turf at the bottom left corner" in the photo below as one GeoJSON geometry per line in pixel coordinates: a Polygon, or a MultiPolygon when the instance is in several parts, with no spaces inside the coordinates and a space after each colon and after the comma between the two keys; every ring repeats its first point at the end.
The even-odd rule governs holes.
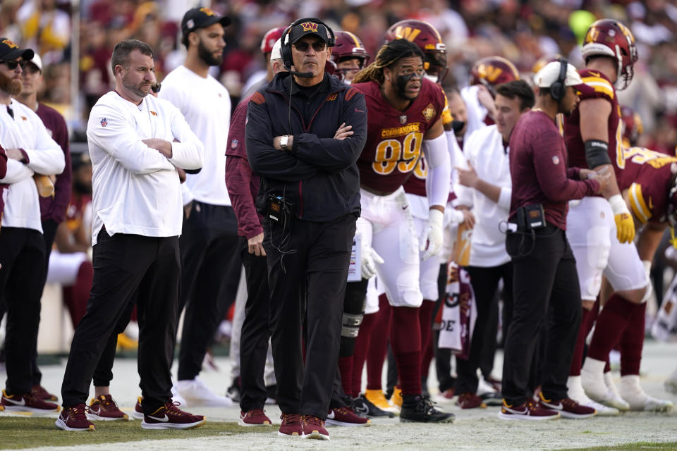
{"type": "Polygon", "coordinates": [[[0,418],[0,450],[19,450],[38,446],[92,445],[167,438],[195,438],[238,433],[273,433],[271,428],[246,428],[236,423],[207,421],[204,426],[186,431],[147,431],[139,421],[97,421],[96,431],[68,432],[54,426],[53,418],[0,418]]]}

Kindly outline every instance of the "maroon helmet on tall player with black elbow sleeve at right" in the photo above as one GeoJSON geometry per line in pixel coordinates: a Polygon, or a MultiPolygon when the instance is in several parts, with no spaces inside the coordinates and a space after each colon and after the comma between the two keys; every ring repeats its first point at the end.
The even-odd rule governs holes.
{"type": "Polygon", "coordinates": [[[633,80],[635,70],[633,64],[637,61],[637,47],[635,37],[628,27],[613,19],[597,20],[585,33],[583,58],[604,55],[611,56],[618,62],[616,89],[626,89],[633,80]]]}

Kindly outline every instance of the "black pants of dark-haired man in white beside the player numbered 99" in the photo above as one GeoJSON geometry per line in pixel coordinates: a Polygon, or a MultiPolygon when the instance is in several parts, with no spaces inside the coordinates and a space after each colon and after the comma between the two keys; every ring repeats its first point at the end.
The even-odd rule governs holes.
{"type": "MultiPolygon", "coordinates": [[[[496,328],[492,327],[492,311],[498,309],[498,299],[496,299],[496,289],[499,286],[499,280],[504,280],[506,293],[510,293],[509,299],[504,302],[512,302],[513,287],[513,267],[510,262],[501,266],[492,268],[481,268],[479,266],[468,266],[465,268],[470,275],[470,285],[475,292],[475,305],[477,306],[477,320],[475,321],[475,330],[472,332],[470,342],[470,355],[468,359],[456,359],[456,393],[477,392],[477,369],[482,366],[482,360],[487,355],[494,358],[493,351],[496,350],[496,328]],[[487,332],[493,332],[493,337],[487,332]],[[486,354],[485,348],[489,348],[486,354]]],[[[495,316],[494,321],[498,317],[495,316]]],[[[489,376],[485,374],[484,376],[489,376]]]]}

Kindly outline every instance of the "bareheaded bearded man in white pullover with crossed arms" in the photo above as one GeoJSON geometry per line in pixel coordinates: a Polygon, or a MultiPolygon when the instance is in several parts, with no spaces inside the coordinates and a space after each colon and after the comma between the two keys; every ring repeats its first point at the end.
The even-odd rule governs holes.
{"type": "Polygon", "coordinates": [[[92,159],[94,279],[87,313],[75,329],[56,426],[91,431],[85,401],[116,323],[138,294],[142,428],[194,428],[205,418],[171,401],[171,355],[178,321],[181,183],[178,169],[202,166],[204,148],[168,101],[149,96],[153,51],[135,39],[111,57],[116,89],[87,122],[92,159]]]}

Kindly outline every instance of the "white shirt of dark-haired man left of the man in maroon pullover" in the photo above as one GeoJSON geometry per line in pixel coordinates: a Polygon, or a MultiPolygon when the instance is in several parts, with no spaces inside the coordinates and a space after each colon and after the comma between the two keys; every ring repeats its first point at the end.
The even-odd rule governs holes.
{"type": "Polygon", "coordinates": [[[489,125],[472,132],[463,145],[463,153],[479,178],[501,188],[499,202],[496,203],[478,190],[461,184],[454,187],[456,202],[472,207],[475,215],[470,266],[500,266],[510,261],[506,252],[506,235],[499,230],[499,223],[507,221],[510,213],[510,152],[508,147],[504,148],[503,137],[496,125],[489,125]]]}

